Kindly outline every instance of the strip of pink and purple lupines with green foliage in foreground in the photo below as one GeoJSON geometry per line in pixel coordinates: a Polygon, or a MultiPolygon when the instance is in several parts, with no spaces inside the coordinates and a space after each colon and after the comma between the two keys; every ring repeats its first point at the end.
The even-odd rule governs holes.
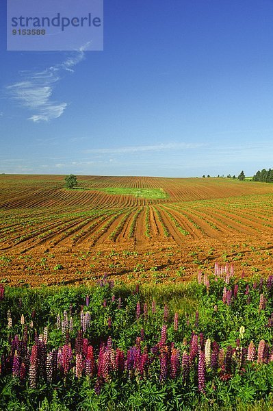
{"type": "Polygon", "coordinates": [[[170,288],[0,284],[0,409],[270,410],[272,297],[217,264],[170,288]]]}

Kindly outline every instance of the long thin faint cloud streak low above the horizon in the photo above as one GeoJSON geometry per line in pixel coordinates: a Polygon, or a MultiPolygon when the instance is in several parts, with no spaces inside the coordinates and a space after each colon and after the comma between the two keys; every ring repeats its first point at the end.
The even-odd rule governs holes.
{"type": "Polygon", "coordinates": [[[83,150],[85,154],[126,154],[126,153],[139,153],[145,151],[161,151],[161,150],[177,150],[177,149],[198,149],[204,147],[204,143],[194,142],[168,142],[159,145],[145,145],[145,146],[131,146],[131,147],[118,147],[118,148],[106,148],[106,149],[87,149],[83,150]]]}

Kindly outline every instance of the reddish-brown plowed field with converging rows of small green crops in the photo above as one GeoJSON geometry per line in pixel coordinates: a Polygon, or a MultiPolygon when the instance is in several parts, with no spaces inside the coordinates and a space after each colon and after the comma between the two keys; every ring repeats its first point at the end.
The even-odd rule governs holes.
{"type": "Polygon", "coordinates": [[[183,281],[216,261],[233,262],[246,275],[272,270],[272,184],[99,176],[78,182],[79,189],[66,190],[60,175],[0,175],[0,281],[78,284],[104,273],[122,281],[183,281]]]}

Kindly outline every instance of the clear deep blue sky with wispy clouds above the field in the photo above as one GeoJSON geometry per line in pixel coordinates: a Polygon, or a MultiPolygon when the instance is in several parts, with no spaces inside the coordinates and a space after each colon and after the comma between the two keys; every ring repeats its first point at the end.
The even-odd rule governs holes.
{"type": "Polygon", "coordinates": [[[104,1],[104,50],[6,51],[0,173],[272,167],[273,1],[104,1]]]}

